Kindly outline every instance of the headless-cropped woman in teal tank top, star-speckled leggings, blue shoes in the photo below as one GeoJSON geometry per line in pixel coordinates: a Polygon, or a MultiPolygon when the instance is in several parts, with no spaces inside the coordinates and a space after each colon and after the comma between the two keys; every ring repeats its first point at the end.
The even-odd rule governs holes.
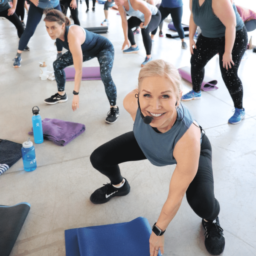
{"type": "Polygon", "coordinates": [[[245,116],[243,85],[237,73],[248,42],[244,22],[233,0],[190,0],[190,10],[189,42],[193,90],[181,99],[187,101],[201,98],[204,67],[218,53],[221,75],[235,107],[235,113],[228,122],[238,124],[245,116]],[[202,32],[195,44],[193,37],[197,26],[200,26],[202,32]]]}

